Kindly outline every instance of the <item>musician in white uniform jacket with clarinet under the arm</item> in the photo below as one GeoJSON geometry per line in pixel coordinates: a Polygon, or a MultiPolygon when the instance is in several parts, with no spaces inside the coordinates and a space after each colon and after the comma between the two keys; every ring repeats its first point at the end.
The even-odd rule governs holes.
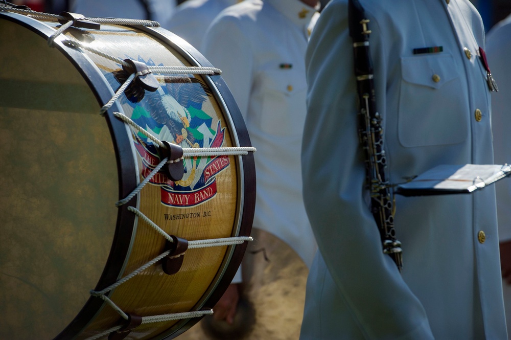
{"type": "MultiPolygon", "coordinates": [[[[401,273],[382,252],[358,138],[347,3],[323,9],[306,54],[302,167],[319,252],[300,340],[507,339],[495,185],[470,195],[396,195],[401,273]]],[[[442,164],[494,164],[484,30],[472,4],[360,3],[390,183],[442,164]]]]}

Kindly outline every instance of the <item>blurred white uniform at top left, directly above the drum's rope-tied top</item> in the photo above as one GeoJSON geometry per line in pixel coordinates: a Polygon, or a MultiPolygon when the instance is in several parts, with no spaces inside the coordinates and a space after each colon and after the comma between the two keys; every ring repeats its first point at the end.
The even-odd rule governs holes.
{"type": "Polygon", "coordinates": [[[86,17],[101,16],[167,22],[176,0],[71,0],[69,10],[86,17]]]}

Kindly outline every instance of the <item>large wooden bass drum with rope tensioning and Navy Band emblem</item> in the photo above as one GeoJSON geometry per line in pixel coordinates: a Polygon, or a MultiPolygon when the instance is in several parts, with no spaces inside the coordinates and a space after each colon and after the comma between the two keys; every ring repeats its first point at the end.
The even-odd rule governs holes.
{"type": "Polygon", "coordinates": [[[0,7],[0,338],[179,335],[210,312],[241,263],[253,156],[185,152],[182,178],[149,174],[164,158],[157,141],[250,147],[234,99],[218,75],[153,71],[154,92],[132,86],[100,115],[129,76],[119,59],[212,65],[159,27],[70,27],[49,47],[59,21],[0,7]],[[180,241],[173,253],[169,235],[188,249],[180,241]]]}

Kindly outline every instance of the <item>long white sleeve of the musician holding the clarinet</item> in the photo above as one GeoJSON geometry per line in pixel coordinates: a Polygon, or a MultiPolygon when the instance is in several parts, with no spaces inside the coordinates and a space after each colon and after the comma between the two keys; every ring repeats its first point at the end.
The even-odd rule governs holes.
{"type": "MultiPolygon", "coordinates": [[[[330,5],[321,14],[306,56],[308,115],[301,160],[306,210],[321,255],[365,337],[432,339],[423,306],[382,253],[366,203],[347,7],[330,5]]],[[[373,32],[378,30],[372,19],[371,24],[373,32]]],[[[378,40],[378,33],[371,35],[371,50],[374,59],[382,60],[383,43],[378,40]]],[[[381,71],[375,79],[384,84],[381,71]]],[[[384,95],[377,92],[377,100],[380,96],[384,103],[384,95]]]]}

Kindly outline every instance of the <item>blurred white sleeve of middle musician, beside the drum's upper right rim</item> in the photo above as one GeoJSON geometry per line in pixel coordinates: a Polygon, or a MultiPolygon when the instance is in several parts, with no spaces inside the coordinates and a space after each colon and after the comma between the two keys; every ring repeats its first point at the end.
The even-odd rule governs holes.
{"type": "MultiPolygon", "coordinates": [[[[245,28],[246,29],[246,28],[245,28]]],[[[208,28],[202,43],[204,56],[222,70],[222,78],[245,119],[252,85],[253,55],[250,37],[240,20],[220,14],[208,28]]]]}

